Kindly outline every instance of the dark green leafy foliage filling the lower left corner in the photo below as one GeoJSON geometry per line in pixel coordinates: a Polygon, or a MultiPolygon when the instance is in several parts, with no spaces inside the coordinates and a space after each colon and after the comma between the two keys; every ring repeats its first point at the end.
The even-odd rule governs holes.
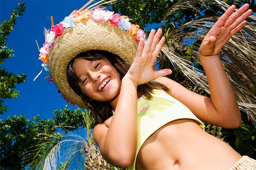
{"type": "Polygon", "coordinates": [[[55,110],[53,118],[42,120],[35,116],[29,120],[21,114],[0,120],[0,169],[22,169],[26,166],[36,169],[44,163],[44,154],[51,150],[49,143],[56,145],[56,139],[63,136],[60,131],[67,133],[67,130],[84,128],[81,109],[69,111],[65,106],[62,110],[55,110]]]}

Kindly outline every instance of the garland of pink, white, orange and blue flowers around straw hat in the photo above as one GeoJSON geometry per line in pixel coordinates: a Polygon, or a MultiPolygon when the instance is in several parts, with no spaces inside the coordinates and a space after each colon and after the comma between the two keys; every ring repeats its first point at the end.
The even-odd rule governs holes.
{"type": "MultiPolygon", "coordinates": [[[[130,19],[127,16],[121,16],[120,14],[114,13],[113,11],[103,10],[102,8],[96,7],[94,10],[74,10],[69,16],[66,16],[62,22],[56,25],[52,25],[51,30],[46,30],[45,33],[45,42],[42,48],[39,49],[39,59],[42,61],[42,67],[44,70],[49,71],[48,69],[48,53],[49,49],[54,45],[54,41],[57,36],[60,36],[64,29],[73,27],[76,23],[87,22],[89,19],[94,20],[95,22],[104,21],[110,22],[111,24],[119,27],[119,29],[127,31],[131,36],[134,37],[136,41],[140,41],[146,38],[145,32],[140,29],[139,25],[131,24],[130,19]]],[[[35,77],[42,73],[43,69],[40,73],[35,77]]],[[[34,79],[34,80],[35,80],[34,79]]],[[[52,79],[50,78],[49,81],[52,79]]],[[[61,95],[69,104],[73,104],[69,101],[64,95],[61,95]]]]}

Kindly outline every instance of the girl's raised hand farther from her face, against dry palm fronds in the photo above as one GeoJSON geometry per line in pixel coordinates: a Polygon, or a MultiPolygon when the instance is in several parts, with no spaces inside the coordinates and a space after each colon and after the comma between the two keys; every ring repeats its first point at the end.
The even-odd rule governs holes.
{"type": "Polygon", "coordinates": [[[249,5],[245,4],[234,12],[236,6],[230,6],[205,36],[199,48],[199,57],[218,55],[221,48],[230,37],[240,31],[246,24],[245,19],[250,16],[252,12],[252,10],[248,10],[248,8],[249,5]]]}

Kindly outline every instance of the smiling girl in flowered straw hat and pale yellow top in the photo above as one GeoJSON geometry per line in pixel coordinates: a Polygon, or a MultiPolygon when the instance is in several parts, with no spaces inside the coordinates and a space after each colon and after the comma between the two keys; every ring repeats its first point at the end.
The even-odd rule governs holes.
{"type": "MultiPolygon", "coordinates": [[[[254,159],[206,133],[200,121],[224,128],[241,124],[236,96],[218,52],[246,24],[252,12],[248,7],[234,12],[236,7],[231,6],[201,43],[199,57],[210,98],[164,77],[171,74],[170,69],[154,70],[165,41],[160,38],[161,29],[152,30],[146,43],[142,38],[136,51],[132,36],[120,30],[121,19],[115,24],[114,14],[98,22],[96,12],[100,20],[110,12],[98,8],[88,14],[91,18],[68,25],[64,32],[61,25],[66,18],[53,26],[52,30],[58,28],[53,30],[54,45],[47,41],[46,55],[42,50],[40,58],[48,62],[64,96],[92,111],[97,121],[94,139],[110,164],[131,169],[255,169],[254,159]]],[[[86,12],[74,11],[70,20],[86,18],[86,12]]]]}

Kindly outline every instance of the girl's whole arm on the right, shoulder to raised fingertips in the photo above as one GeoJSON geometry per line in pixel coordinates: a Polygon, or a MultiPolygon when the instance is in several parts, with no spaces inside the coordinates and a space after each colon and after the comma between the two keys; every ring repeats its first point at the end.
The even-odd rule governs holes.
{"type": "Polygon", "coordinates": [[[158,79],[170,87],[172,96],[187,105],[201,120],[224,128],[239,127],[241,114],[233,87],[222,67],[218,53],[230,37],[242,29],[246,24],[245,19],[252,12],[247,10],[248,4],[243,5],[236,12],[234,12],[235,8],[234,5],[228,8],[200,45],[199,58],[207,75],[210,98],[186,90],[170,79],[158,79]]]}

